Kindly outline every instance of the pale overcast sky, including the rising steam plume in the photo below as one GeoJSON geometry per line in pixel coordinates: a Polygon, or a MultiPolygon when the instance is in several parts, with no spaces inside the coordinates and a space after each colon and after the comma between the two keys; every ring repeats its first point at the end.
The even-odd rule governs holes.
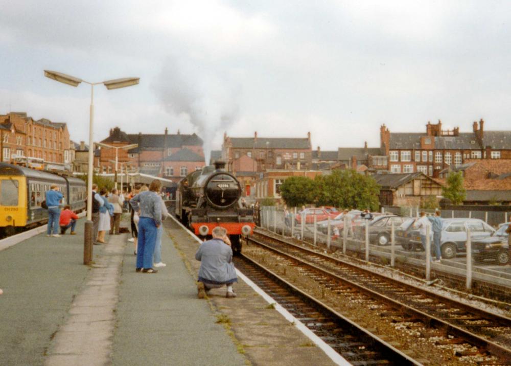
{"type": "MultiPolygon", "coordinates": [[[[197,132],[306,137],[323,150],[379,146],[379,126],[511,127],[508,1],[0,0],[0,113],[67,122],[88,140],[197,132]]],[[[208,145],[206,145],[207,148],[208,145]]]]}

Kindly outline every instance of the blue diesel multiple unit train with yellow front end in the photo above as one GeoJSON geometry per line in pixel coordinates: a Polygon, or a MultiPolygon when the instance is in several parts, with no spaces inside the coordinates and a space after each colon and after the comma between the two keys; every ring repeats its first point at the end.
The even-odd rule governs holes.
{"type": "Polygon", "coordinates": [[[64,195],[62,206],[85,210],[87,190],[82,179],[0,163],[0,236],[46,223],[48,212],[41,202],[54,184],[64,195]]]}

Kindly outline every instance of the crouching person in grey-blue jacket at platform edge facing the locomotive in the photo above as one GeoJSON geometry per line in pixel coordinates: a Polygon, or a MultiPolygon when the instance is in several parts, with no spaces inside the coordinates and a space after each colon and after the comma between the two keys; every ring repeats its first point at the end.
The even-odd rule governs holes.
{"type": "Polygon", "coordinates": [[[233,283],[238,282],[236,269],[233,264],[233,249],[227,230],[217,226],[213,229],[213,239],[203,242],[195,259],[200,261],[197,296],[203,299],[206,292],[212,288],[227,286],[226,298],[236,298],[233,283]]]}

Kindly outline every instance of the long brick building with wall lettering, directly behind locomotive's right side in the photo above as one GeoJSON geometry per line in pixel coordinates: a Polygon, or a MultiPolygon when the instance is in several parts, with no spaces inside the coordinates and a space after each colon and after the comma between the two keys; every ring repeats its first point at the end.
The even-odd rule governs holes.
{"type": "Polygon", "coordinates": [[[310,170],[311,134],[307,138],[234,138],[224,133],[222,159],[230,172],[263,172],[268,169],[310,170]]]}

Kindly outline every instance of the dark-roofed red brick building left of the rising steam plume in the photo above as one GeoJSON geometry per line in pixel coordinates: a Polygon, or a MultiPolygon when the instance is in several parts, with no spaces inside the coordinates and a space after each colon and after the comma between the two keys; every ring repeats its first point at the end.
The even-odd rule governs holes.
{"type": "MultiPolygon", "coordinates": [[[[204,167],[202,140],[195,133],[169,134],[165,128],[162,134],[128,134],[119,127],[112,128],[106,139],[101,141],[111,146],[137,144],[129,150],[118,150],[118,162],[127,163],[130,171],[138,171],[171,179],[178,182],[185,175],[204,167]]],[[[103,173],[113,172],[115,160],[113,148],[100,149],[99,168],[103,173]]],[[[120,168],[119,168],[120,169],[120,168]]]]}

